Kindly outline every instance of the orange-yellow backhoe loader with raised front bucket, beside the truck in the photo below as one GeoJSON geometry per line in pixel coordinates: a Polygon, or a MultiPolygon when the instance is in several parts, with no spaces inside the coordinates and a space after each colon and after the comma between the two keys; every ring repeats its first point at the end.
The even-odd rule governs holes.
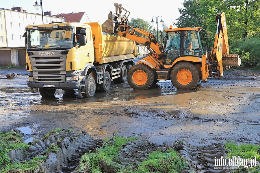
{"type": "Polygon", "coordinates": [[[171,80],[177,89],[193,89],[199,81],[222,77],[223,69],[240,66],[238,54],[229,54],[226,16],[216,15],[217,32],[211,54],[203,53],[199,32],[202,27],[165,29],[166,37],[161,44],[155,36],[144,29],[128,25],[130,12],[115,3],[116,13],[109,13],[102,24],[102,31],[115,33],[143,44],[150,51],[148,57],[133,65],[127,74],[127,81],[134,89],[148,89],[159,80],[171,80]],[[142,36],[136,35],[140,33],[142,36]]]}

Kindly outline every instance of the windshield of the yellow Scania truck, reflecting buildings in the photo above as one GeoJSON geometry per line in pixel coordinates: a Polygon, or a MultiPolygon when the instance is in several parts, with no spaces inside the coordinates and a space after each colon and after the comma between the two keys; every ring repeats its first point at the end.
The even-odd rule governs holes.
{"type": "Polygon", "coordinates": [[[27,49],[68,49],[74,43],[73,29],[44,29],[29,30],[27,37],[27,49]]]}

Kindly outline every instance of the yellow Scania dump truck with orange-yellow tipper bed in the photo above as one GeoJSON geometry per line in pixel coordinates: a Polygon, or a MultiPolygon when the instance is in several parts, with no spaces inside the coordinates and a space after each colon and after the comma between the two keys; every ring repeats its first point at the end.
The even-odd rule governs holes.
{"type": "Polygon", "coordinates": [[[83,97],[93,97],[96,88],[108,91],[112,79],[126,82],[137,55],[134,41],[103,35],[98,22],[30,25],[24,37],[27,85],[42,97],[56,89],[78,89],[83,97]]]}

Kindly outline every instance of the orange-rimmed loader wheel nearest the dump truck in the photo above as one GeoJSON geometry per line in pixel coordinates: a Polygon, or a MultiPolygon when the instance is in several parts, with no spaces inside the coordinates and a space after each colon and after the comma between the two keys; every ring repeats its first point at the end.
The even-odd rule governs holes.
{"type": "Polygon", "coordinates": [[[145,64],[133,65],[127,74],[127,81],[133,89],[148,89],[154,81],[153,69],[145,64]]]}

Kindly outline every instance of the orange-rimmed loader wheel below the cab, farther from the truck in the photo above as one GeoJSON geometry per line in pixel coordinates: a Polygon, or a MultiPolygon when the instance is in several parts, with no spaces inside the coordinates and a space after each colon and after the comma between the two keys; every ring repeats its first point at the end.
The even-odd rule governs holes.
{"type": "Polygon", "coordinates": [[[177,89],[193,89],[199,82],[198,68],[192,63],[181,62],[172,68],[170,79],[177,89]]]}

